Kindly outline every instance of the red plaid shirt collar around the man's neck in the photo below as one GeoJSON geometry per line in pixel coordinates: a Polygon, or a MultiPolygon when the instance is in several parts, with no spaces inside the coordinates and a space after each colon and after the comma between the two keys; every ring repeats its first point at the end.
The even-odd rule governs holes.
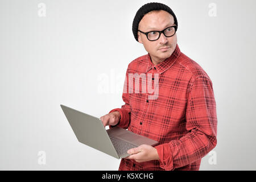
{"type": "Polygon", "coordinates": [[[147,64],[146,73],[154,67],[156,68],[156,71],[160,74],[165,72],[168,68],[170,68],[172,66],[172,64],[175,63],[175,61],[177,60],[177,57],[180,56],[180,53],[181,52],[180,52],[179,46],[176,44],[176,48],[174,49],[174,52],[172,53],[172,55],[157,65],[154,65],[152,63],[150,54],[148,53],[147,54],[147,63],[148,64],[147,64]]]}

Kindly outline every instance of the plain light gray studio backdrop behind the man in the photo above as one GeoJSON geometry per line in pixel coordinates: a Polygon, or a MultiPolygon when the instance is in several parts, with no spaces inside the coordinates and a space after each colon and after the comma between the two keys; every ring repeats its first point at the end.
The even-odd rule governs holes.
{"type": "MultiPolygon", "coordinates": [[[[127,65],[147,53],[131,31],[147,2],[0,1],[0,169],[118,169],[77,141],[60,104],[96,117],[123,105],[127,65]]],[[[218,142],[200,169],[255,170],[256,2],[157,2],[213,82],[218,142]]]]}

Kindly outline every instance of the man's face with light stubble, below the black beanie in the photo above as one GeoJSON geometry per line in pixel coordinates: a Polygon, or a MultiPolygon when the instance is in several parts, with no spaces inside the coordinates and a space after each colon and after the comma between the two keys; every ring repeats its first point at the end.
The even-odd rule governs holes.
{"type": "MultiPolygon", "coordinates": [[[[143,32],[149,31],[162,31],[164,28],[174,25],[174,17],[167,11],[152,11],[143,16],[141,22],[139,22],[139,30],[143,32]]],[[[154,64],[158,64],[161,61],[167,59],[174,52],[177,44],[177,35],[167,38],[163,34],[155,41],[150,41],[147,36],[138,31],[139,43],[142,43],[148,53],[150,53],[151,59],[154,64]],[[167,50],[161,50],[163,47],[170,47],[167,50]]]]}

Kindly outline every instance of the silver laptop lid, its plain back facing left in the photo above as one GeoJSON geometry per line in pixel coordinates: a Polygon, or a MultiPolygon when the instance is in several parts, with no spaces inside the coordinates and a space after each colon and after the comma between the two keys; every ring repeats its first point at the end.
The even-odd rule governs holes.
{"type": "Polygon", "coordinates": [[[100,118],[60,106],[79,142],[120,159],[100,118]]]}

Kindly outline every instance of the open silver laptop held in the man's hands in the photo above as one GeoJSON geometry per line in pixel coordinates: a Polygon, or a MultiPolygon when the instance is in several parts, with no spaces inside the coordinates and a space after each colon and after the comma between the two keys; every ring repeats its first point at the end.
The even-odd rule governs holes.
{"type": "Polygon", "coordinates": [[[126,158],[127,151],[141,144],[155,146],[157,141],[120,127],[106,130],[100,118],[60,105],[77,140],[114,158],[126,158]]]}

